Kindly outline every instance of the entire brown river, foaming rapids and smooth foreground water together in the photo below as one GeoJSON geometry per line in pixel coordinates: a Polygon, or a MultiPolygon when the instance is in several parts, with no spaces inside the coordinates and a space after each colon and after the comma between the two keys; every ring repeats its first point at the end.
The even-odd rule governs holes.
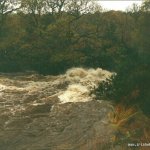
{"type": "Polygon", "coordinates": [[[101,68],[72,68],[58,76],[1,74],[0,149],[90,150],[92,137],[110,142],[112,107],[90,93],[111,75],[101,68]]]}

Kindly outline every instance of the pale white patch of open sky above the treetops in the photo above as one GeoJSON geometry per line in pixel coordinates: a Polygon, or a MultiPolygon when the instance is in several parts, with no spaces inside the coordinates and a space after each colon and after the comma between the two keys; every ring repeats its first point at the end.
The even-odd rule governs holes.
{"type": "Polygon", "coordinates": [[[142,0],[99,0],[99,4],[108,10],[123,10],[131,7],[133,3],[141,5],[142,0]]]}

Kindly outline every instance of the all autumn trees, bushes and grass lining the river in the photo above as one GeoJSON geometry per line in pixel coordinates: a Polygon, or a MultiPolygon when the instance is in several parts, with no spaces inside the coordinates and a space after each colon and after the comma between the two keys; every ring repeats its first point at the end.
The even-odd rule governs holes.
{"type": "Polygon", "coordinates": [[[117,144],[150,140],[149,48],[149,0],[126,12],[104,11],[92,0],[0,1],[0,72],[114,72],[92,93],[114,104],[117,144]]]}

